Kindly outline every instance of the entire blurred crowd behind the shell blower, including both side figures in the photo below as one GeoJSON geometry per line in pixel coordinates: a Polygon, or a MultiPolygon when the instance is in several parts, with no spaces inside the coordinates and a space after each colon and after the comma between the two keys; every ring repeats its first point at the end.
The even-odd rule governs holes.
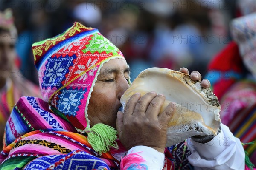
{"type": "MultiPolygon", "coordinates": [[[[40,96],[32,43],[79,21],[122,51],[131,81],[149,67],[199,71],[220,100],[221,121],[241,142],[255,141],[256,0],[0,0],[0,11],[7,8],[13,17],[0,16],[0,140],[19,97],[40,96]]],[[[253,163],[255,150],[247,147],[253,163]]]]}

